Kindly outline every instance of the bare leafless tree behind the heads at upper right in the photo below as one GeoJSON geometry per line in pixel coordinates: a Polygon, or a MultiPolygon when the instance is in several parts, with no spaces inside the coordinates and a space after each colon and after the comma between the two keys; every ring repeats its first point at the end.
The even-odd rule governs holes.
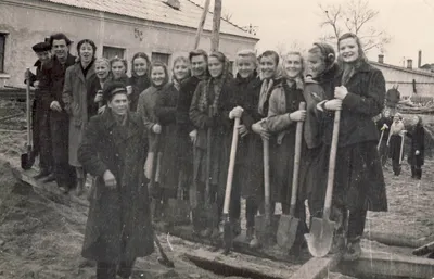
{"type": "Polygon", "coordinates": [[[320,38],[322,41],[336,45],[341,35],[350,31],[361,39],[365,51],[376,48],[384,52],[384,47],[391,42],[390,35],[372,25],[379,11],[369,7],[369,0],[350,0],[345,4],[327,7],[319,4],[319,9],[323,17],[320,26],[329,29],[320,38]]]}

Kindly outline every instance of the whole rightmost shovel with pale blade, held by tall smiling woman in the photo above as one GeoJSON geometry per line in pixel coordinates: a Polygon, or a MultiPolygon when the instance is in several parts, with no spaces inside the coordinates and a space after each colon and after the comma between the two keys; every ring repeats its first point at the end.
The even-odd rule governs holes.
{"type": "Polygon", "coordinates": [[[327,192],[322,219],[314,217],[310,224],[310,232],[305,234],[309,252],[315,257],[326,256],[330,252],[333,244],[335,223],[330,220],[330,211],[332,205],[340,121],[341,111],[336,111],[334,113],[333,138],[330,150],[329,175],[327,180],[327,192]]]}

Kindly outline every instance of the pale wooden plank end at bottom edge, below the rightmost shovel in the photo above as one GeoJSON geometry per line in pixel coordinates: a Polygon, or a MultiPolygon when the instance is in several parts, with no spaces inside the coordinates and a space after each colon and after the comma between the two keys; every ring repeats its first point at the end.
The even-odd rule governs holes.
{"type": "Polygon", "coordinates": [[[334,254],[326,257],[312,257],[304,264],[291,279],[322,279],[328,278],[328,272],[334,269],[340,261],[340,254],[334,254]]]}

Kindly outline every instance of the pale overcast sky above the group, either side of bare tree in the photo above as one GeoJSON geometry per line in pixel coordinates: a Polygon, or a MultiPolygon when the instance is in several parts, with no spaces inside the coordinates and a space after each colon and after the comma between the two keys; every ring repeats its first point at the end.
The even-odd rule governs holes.
{"type": "MultiPolygon", "coordinates": [[[[308,48],[323,35],[319,2],[327,5],[345,0],[222,0],[222,5],[237,25],[258,26],[257,48],[264,50],[276,49],[279,43],[292,46],[294,41],[308,48]]],[[[385,48],[385,63],[403,65],[405,58],[412,59],[416,66],[418,50],[422,50],[422,65],[434,63],[434,0],[370,0],[370,7],[379,11],[372,25],[393,38],[385,48]]],[[[376,60],[379,53],[373,49],[368,56],[376,60]]]]}

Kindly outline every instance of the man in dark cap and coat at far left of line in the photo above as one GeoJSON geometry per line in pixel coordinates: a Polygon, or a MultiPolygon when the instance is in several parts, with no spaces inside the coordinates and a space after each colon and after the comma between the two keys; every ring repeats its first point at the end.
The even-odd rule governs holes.
{"type": "MultiPolygon", "coordinates": [[[[48,42],[38,42],[31,47],[38,56],[35,63],[36,75],[30,72],[28,78],[29,85],[35,88],[35,99],[31,107],[31,132],[35,155],[39,154],[39,174],[36,179],[47,177],[53,170],[53,158],[51,154],[51,135],[50,135],[50,112],[49,107],[43,105],[43,98],[50,93],[50,85],[47,71],[51,67],[51,47],[48,42]]],[[[24,81],[27,83],[27,79],[24,81]]],[[[50,179],[49,179],[50,180],[50,179]]]]}

